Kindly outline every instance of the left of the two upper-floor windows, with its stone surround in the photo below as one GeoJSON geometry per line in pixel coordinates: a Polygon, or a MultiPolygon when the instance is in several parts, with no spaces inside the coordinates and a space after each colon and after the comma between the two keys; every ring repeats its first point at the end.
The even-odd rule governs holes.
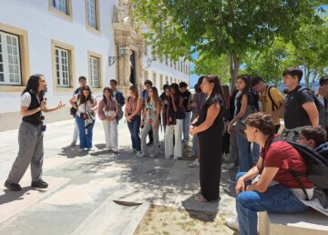
{"type": "Polygon", "coordinates": [[[49,11],[68,21],[73,21],[72,0],[49,0],[49,11]]]}

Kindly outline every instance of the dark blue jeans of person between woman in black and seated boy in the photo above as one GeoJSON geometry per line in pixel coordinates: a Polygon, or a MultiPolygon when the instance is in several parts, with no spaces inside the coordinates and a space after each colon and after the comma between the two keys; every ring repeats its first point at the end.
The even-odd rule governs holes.
{"type": "Polygon", "coordinates": [[[240,133],[236,135],[240,171],[247,172],[254,166],[254,161],[251,156],[251,143],[241,136],[240,133]]]}

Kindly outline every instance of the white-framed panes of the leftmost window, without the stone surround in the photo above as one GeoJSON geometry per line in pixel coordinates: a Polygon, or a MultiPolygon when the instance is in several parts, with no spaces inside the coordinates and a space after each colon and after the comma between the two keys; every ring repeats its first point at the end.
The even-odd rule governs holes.
{"type": "Polygon", "coordinates": [[[18,36],[2,31],[0,31],[0,84],[22,84],[18,36]]]}

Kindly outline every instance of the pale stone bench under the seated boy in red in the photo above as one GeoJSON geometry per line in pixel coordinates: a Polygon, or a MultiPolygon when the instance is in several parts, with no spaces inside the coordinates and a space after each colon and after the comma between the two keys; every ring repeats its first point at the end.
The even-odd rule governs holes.
{"type": "Polygon", "coordinates": [[[327,235],[328,217],[314,209],[300,214],[261,212],[260,235],[327,235]]]}

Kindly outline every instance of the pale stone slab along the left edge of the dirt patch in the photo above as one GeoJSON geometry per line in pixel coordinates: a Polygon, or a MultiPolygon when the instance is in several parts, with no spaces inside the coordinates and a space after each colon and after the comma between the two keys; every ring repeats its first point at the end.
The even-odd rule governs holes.
{"type": "Polygon", "coordinates": [[[109,197],[72,233],[72,235],[133,235],[149,203],[114,201],[109,197]]]}

